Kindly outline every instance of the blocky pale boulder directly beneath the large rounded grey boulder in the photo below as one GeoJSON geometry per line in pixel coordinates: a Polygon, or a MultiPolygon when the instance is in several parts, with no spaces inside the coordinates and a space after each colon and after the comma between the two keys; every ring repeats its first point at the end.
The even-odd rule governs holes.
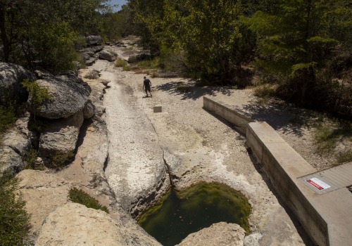
{"type": "Polygon", "coordinates": [[[81,110],[66,119],[47,121],[46,127],[39,138],[39,155],[51,157],[58,153],[73,153],[83,120],[81,110]]]}

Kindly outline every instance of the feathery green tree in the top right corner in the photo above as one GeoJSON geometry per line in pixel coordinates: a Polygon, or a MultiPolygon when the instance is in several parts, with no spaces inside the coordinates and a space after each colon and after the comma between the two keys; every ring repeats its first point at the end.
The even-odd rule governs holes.
{"type": "Polygon", "coordinates": [[[258,34],[256,65],[281,75],[289,84],[282,87],[286,96],[298,98],[300,105],[314,103],[321,79],[333,77],[329,61],[338,49],[347,47],[344,34],[351,33],[352,15],[346,4],[344,0],[280,0],[278,11],[258,11],[244,19],[258,34]]]}

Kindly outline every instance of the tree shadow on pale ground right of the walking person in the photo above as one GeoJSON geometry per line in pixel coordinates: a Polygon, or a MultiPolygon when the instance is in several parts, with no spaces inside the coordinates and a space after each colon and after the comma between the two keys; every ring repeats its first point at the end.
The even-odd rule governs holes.
{"type": "Polygon", "coordinates": [[[156,86],[156,89],[161,91],[167,91],[169,94],[181,95],[181,100],[196,100],[202,96],[215,96],[215,93],[222,93],[227,96],[231,96],[233,93],[227,87],[220,86],[206,86],[206,87],[197,87],[194,85],[194,82],[168,82],[156,86]]]}

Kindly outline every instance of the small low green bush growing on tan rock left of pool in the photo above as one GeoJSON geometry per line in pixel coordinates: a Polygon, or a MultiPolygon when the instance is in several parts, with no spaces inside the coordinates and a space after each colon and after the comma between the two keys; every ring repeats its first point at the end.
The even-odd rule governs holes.
{"type": "Polygon", "coordinates": [[[105,206],[101,206],[98,200],[96,200],[95,198],[92,198],[83,190],[79,190],[75,187],[70,189],[70,192],[68,193],[68,198],[72,202],[80,203],[88,208],[100,209],[103,212],[109,213],[108,208],[105,206]]]}

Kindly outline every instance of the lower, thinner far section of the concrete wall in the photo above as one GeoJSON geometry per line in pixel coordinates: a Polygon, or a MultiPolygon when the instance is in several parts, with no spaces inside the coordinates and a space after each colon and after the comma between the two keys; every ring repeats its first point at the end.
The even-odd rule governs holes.
{"type": "Polygon", "coordinates": [[[246,134],[247,124],[253,122],[251,118],[241,115],[232,106],[206,96],[203,96],[203,108],[234,124],[242,134],[246,134]]]}

